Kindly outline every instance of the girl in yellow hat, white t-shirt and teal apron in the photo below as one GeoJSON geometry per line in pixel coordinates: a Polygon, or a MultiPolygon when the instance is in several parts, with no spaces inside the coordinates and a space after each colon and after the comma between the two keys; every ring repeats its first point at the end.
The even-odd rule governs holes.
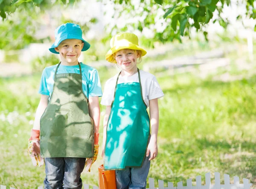
{"type": "Polygon", "coordinates": [[[106,60],[117,63],[122,71],[106,82],[101,101],[107,106],[104,169],[116,170],[118,189],[145,189],[150,160],[157,156],[157,99],[164,94],[154,75],[137,68],[137,59],[140,61],[146,51],[138,46],[135,34],[116,34],[110,44],[106,60]]]}

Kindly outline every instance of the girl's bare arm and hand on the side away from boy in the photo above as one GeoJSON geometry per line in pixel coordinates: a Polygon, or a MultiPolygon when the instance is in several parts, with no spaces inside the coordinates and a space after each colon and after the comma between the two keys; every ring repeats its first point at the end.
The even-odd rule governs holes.
{"type": "Polygon", "coordinates": [[[158,113],[158,99],[149,100],[149,113],[150,113],[150,123],[151,123],[151,139],[148,144],[147,157],[150,152],[149,160],[153,160],[157,157],[157,133],[159,125],[159,113],[158,113]]]}

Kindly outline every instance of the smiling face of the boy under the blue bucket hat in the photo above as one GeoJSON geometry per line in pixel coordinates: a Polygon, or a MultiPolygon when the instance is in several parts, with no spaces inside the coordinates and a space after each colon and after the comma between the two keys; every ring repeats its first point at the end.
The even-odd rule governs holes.
{"type": "Polygon", "coordinates": [[[84,43],[78,39],[67,39],[62,41],[55,51],[60,53],[61,63],[64,65],[76,65],[78,64],[78,58],[81,55],[84,43]]]}

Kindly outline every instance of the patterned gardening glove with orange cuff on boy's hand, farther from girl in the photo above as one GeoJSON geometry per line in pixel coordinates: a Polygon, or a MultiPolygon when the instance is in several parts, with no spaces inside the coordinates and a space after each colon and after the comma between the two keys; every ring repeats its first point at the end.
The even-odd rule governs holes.
{"type": "Polygon", "coordinates": [[[40,154],[40,131],[31,129],[31,136],[29,138],[29,157],[32,160],[33,166],[42,166],[44,165],[44,158],[40,154]]]}

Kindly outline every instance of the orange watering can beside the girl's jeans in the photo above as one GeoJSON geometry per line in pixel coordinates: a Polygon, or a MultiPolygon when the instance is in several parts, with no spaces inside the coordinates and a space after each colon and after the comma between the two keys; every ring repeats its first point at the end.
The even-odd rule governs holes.
{"type": "Polygon", "coordinates": [[[99,189],[116,189],[116,172],[105,171],[104,166],[99,166],[99,189]]]}

